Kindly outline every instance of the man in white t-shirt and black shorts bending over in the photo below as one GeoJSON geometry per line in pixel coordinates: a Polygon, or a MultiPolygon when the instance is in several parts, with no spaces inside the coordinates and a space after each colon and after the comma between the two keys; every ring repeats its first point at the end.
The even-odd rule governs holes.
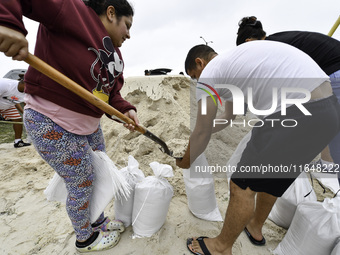
{"type": "Polygon", "coordinates": [[[188,249],[232,254],[243,230],[253,244],[264,245],[262,227],[277,197],[340,130],[340,105],[328,76],[302,51],[270,41],[242,44],[223,55],[198,45],[189,51],[185,68],[198,80],[198,113],[179,167],[190,167],[212,133],[237,128],[233,120],[245,114],[245,105],[259,118],[231,176],[221,233],[189,238],[188,249]],[[222,100],[225,111],[216,116],[222,100]]]}

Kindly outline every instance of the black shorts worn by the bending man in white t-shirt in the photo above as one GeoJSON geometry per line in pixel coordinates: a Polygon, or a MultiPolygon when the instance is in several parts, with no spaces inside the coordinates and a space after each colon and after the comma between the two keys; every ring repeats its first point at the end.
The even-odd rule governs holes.
{"type": "Polygon", "coordinates": [[[340,105],[334,95],[304,107],[312,115],[304,115],[293,105],[286,116],[274,113],[263,120],[262,127],[253,128],[231,177],[236,185],[282,196],[340,131],[340,105]]]}

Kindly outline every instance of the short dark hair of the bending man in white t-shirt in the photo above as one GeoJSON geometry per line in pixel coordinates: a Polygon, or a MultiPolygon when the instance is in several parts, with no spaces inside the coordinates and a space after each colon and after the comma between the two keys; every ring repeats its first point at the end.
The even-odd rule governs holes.
{"type": "Polygon", "coordinates": [[[194,70],[196,68],[196,58],[202,58],[206,61],[209,61],[213,55],[217,54],[211,47],[200,44],[192,47],[185,59],[185,72],[188,73],[190,70],[194,70]]]}

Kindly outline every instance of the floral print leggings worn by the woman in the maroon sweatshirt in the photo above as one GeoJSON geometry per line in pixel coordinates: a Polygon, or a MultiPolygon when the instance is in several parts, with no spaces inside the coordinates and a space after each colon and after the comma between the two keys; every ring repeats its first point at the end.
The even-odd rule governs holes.
{"type": "MultiPolygon", "coordinates": [[[[91,149],[105,151],[99,126],[91,135],[76,135],[54,123],[45,115],[24,111],[25,127],[40,156],[64,179],[68,191],[66,210],[78,241],[93,233],[89,203],[94,180],[91,149]]],[[[104,214],[97,222],[104,220],[104,214]]]]}

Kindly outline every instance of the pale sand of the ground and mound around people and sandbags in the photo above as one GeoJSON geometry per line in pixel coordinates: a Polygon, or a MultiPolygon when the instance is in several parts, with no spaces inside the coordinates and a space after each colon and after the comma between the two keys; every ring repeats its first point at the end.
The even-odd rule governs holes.
{"type": "MultiPolygon", "coordinates": [[[[122,95],[136,105],[141,123],[166,141],[176,155],[186,148],[190,135],[190,87],[183,76],[131,77],[126,79],[122,95]]],[[[193,90],[192,90],[193,91],[193,90]]],[[[191,93],[192,93],[191,91],[191,93]]],[[[163,227],[150,238],[132,239],[131,227],[122,234],[119,244],[97,254],[185,254],[186,238],[215,236],[222,222],[196,218],[187,206],[182,170],[158,145],[139,133],[129,133],[124,127],[102,118],[108,156],[119,167],[134,156],[146,176],[152,175],[149,163],[169,164],[174,177],[168,178],[174,189],[167,219],[163,227]]],[[[226,164],[248,128],[233,128],[215,134],[209,144],[209,162],[226,164]],[[223,151],[223,155],[218,153],[223,151]]],[[[46,200],[43,191],[54,171],[37,154],[33,146],[14,149],[12,144],[0,145],[0,254],[77,254],[75,235],[65,206],[46,200]]],[[[225,178],[215,179],[216,199],[224,218],[228,206],[228,184],[225,178]]],[[[318,194],[322,192],[318,192],[318,194]]],[[[319,196],[322,199],[322,194],[319,196]]],[[[114,217],[113,203],[105,210],[114,217]]],[[[267,245],[255,247],[241,233],[233,252],[236,255],[266,255],[275,249],[286,230],[267,220],[264,236],[267,245]]],[[[95,253],[94,253],[95,254],[95,253]]]]}

